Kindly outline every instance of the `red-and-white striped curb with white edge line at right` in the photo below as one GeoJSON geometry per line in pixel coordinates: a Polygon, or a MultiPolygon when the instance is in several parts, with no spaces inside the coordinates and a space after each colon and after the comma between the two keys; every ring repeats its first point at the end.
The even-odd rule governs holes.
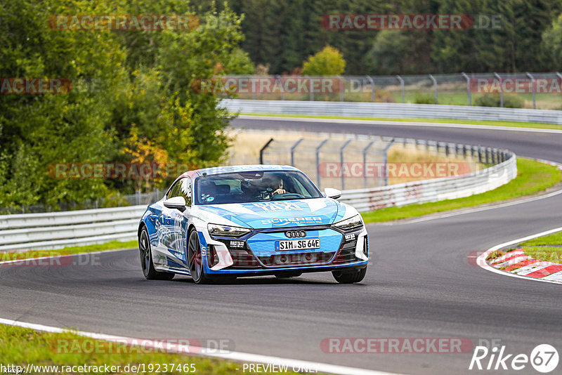
{"type": "Polygon", "coordinates": [[[553,284],[562,284],[562,264],[552,262],[542,262],[528,256],[521,249],[509,251],[509,253],[494,259],[490,263],[486,261],[488,256],[494,251],[504,249],[504,247],[519,244],[537,237],[551,235],[552,233],[561,232],[562,227],[554,228],[544,232],[536,233],[523,238],[514,239],[503,244],[498,244],[484,251],[478,258],[476,264],[481,268],[490,272],[499,273],[504,276],[518,277],[520,279],[528,279],[539,282],[550,282],[553,284]],[[499,270],[499,268],[505,270],[499,270]]]}

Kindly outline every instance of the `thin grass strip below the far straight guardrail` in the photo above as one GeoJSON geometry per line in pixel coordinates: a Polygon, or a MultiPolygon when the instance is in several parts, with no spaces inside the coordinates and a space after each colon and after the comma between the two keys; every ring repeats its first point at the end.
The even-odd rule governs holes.
{"type": "Polygon", "coordinates": [[[375,120],[375,121],[397,121],[397,122],[436,122],[439,124],[469,124],[469,125],[491,125],[491,126],[511,126],[534,129],[562,129],[562,125],[542,124],[540,122],[517,122],[517,121],[491,121],[491,120],[459,120],[459,119],[386,119],[384,117],[344,117],[344,116],[323,116],[308,114],[256,114],[256,113],[240,113],[248,116],[265,116],[265,117],[301,117],[310,119],[350,119],[350,120],[375,120]]]}

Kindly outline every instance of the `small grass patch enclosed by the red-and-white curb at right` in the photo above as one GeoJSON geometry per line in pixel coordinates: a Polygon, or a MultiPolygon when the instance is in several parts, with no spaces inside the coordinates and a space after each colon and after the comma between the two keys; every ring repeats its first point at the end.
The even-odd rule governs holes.
{"type": "MultiPolygon", "coordinates": [[[[492,261],[495,258],[514,250],[523,250],[528,256],[537,261],[553,262],[562,264],[562,232],[556,232],[548,236],[530,239],[529,241],[518,244],[514,248],[494,251],[486,258],[492,261]]],[[[513,268],[512,268],[513,269],[513,268]]]]}

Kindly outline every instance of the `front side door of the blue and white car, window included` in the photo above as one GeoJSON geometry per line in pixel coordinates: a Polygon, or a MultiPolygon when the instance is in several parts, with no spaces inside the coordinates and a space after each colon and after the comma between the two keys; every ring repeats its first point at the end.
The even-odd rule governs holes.
{"type": "Polygon", "coordinates": [[[183,212],[177,209],[162,210],[162,223],[164,225],[162,247],[166,249],[169,266],[184,267],[186,265],[186,237],[191,207],[191,178],[185,177],[176,181],[170,189],[167,199],[183,197],[187,209],[183,212]]]}

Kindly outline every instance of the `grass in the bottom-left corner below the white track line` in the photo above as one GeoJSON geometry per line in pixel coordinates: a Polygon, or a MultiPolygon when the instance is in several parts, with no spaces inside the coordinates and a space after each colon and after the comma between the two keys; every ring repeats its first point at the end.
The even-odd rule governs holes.
{"type": "MultiPolygon", "coordinates": [[[[164,338],[159,338],[164,339],[164,338]]],[[[162,351],[162,350],[161,350],[162,351]]],[[[124,367],[129,365],[144,364],[146,371],[152,364],[154,371],[145,371],[145,374],[157,373],[157,366],[161,373],[165,374],[207,374],[207,375],[229,375],[229,374],[254,374],[254,371],[242,371],[241,363],[231,362],[209,357],[197,357],[193,355],[178,355],[169,353],[155,353],[152,350],[124,346],[124,344],[109,343],[107,341],[93,341],[71,332],[63,334],[51,334],[34,331],[32,329],[11,327],[0,324],[0,358],[1,363],[18,364],[26,367],[28,363],[34,365],[58,365],[58,366],[99,366],[108,364],[110,366],[121,366],[121,371],[90,371],[89,374],[136,374],[134,371],[123,372],[124,367]],[[118,353],[117,353],[118,352],[118,353]],[[149,353],[150,352],[150,353],[149,353]],[[164,371],[164,365],[170,370],[174,365],[174,371],[164,371]],[[176,366],[194,364],[195,371],[176,371],[176,366]]],[[[130,367],[129,367],[130,368],[130,367]]],[[[290,367],[289,367],[290,369],[290,367]]],[[[52,369],[51,369],[52,370],[52,369]]],[[[24,370],[25,371],[25,370],[24,370]]],[[[84,374],[85,371],[41,371],[41,374],[84,374]]],[[[141,373],[141,372],[140,372],[141,373]]],[[[290,374],[296,374],[292,371],[290,374]]],[[[272,374],[260,372],[259,374],[272,374]]]]}

